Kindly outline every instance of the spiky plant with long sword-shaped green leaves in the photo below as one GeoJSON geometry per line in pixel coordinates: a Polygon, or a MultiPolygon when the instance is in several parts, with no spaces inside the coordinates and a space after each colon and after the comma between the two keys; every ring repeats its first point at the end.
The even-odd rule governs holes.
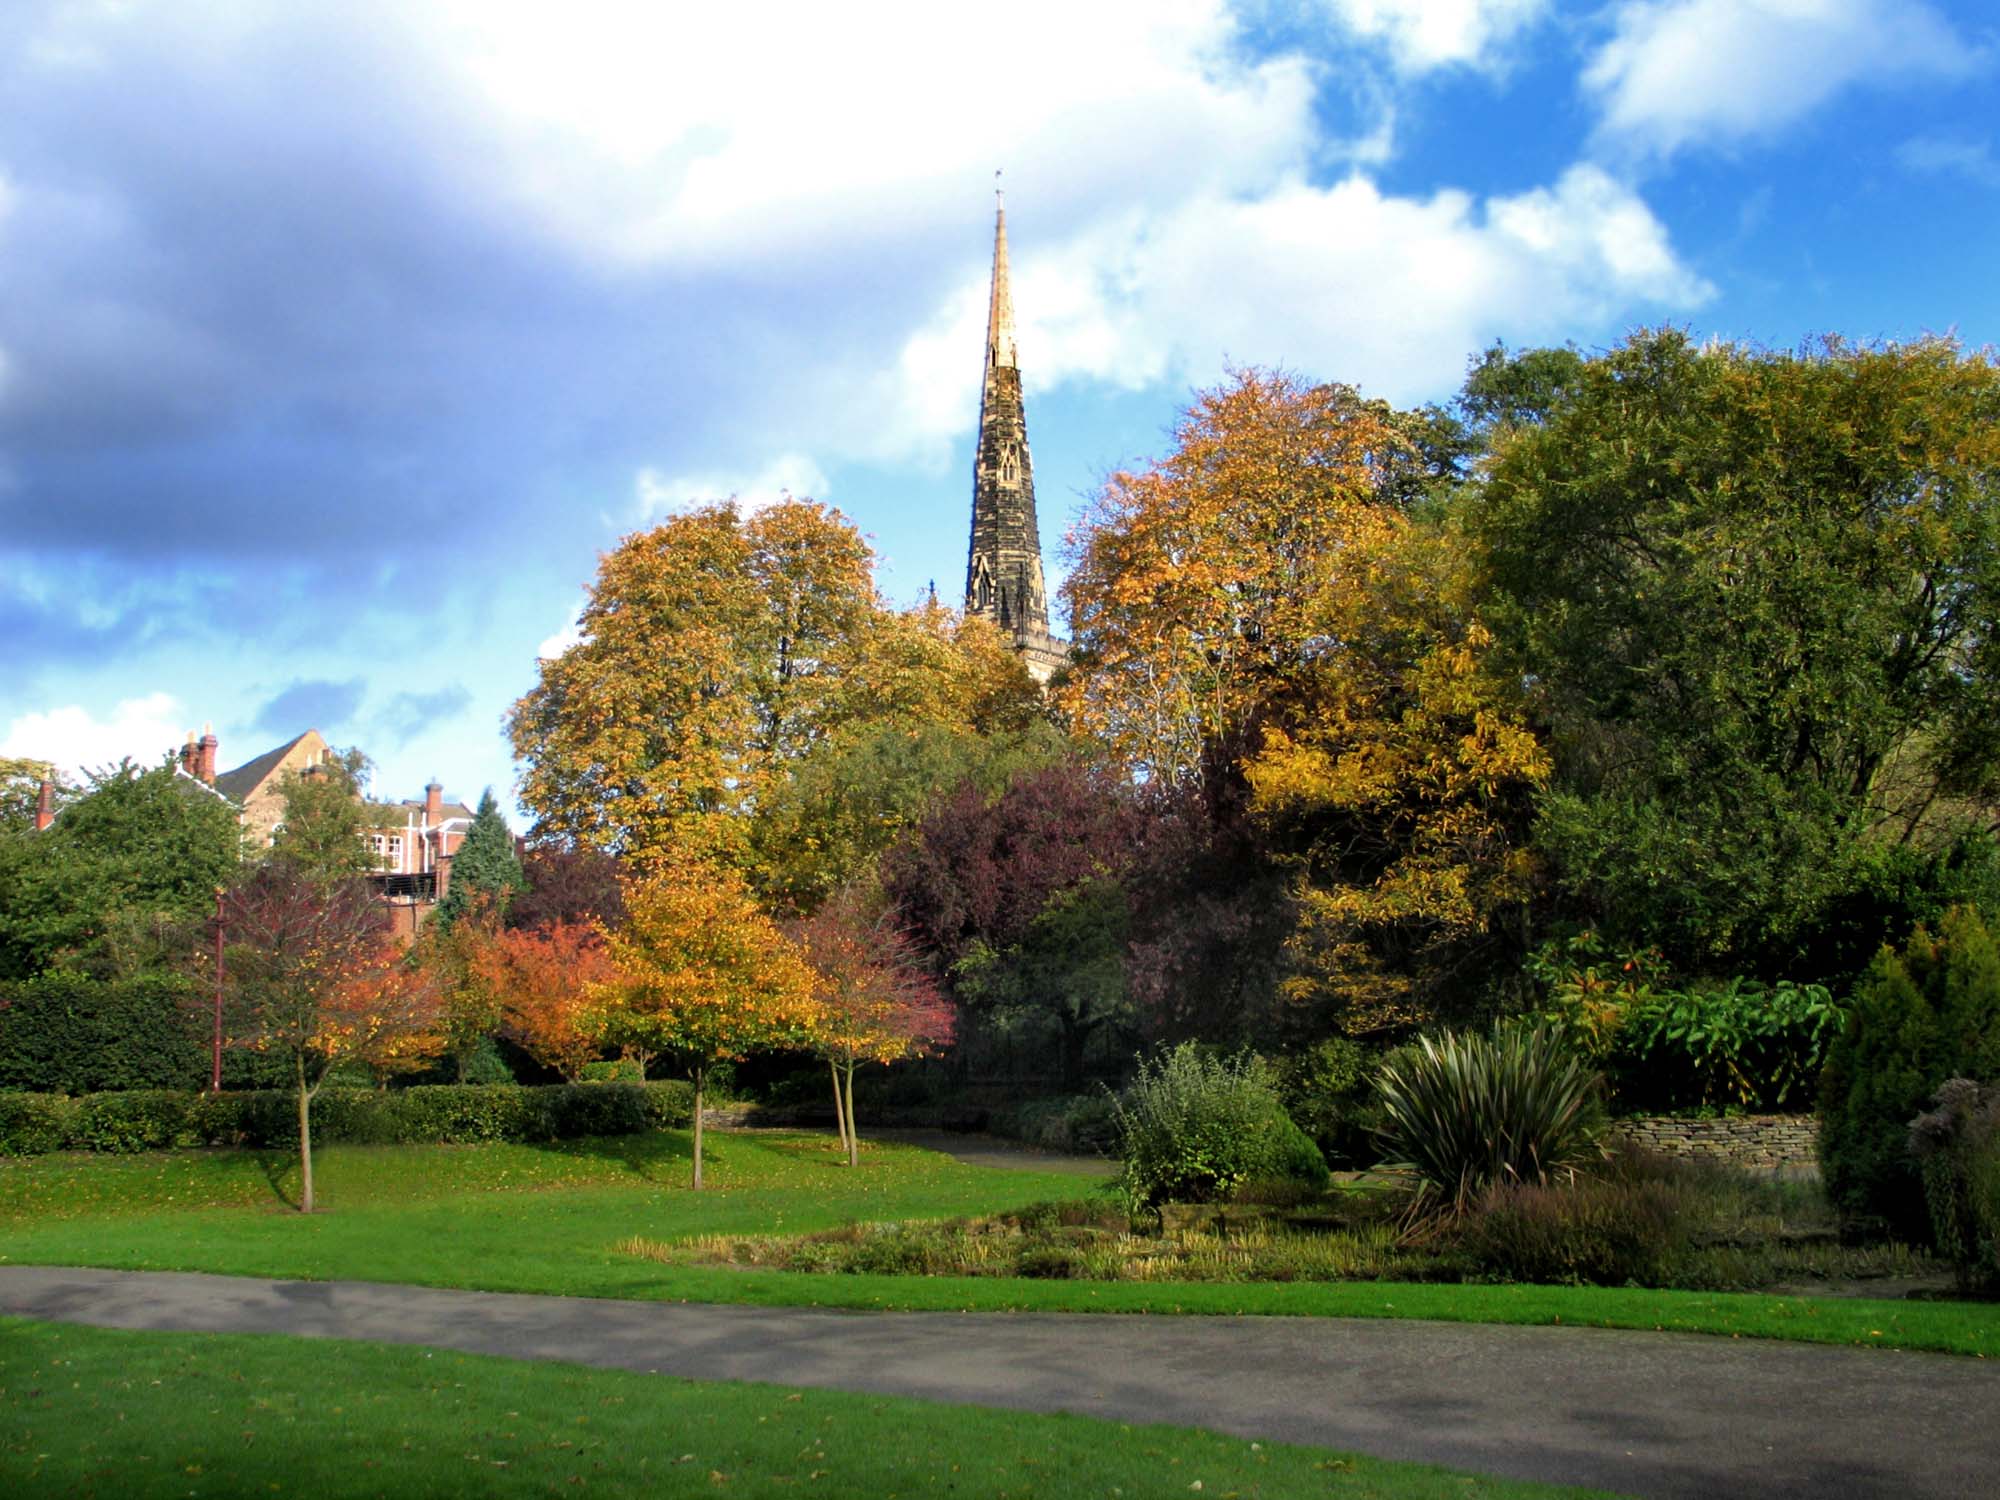
{"type": "Polygon", "coordinates": [[[1600,1160],[1598,1074],[1548,1026],[1444,1032],[1382,1064],[1382,1146],[1420,1202],[1462,1212],[1496,1184],[1600,1160]]]}

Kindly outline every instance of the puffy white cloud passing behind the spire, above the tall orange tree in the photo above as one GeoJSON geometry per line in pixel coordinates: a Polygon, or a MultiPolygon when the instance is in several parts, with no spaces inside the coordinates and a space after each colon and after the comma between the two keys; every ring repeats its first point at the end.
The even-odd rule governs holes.
{"type": "MultiPolygon", "coordinates": [[[[1200,198],[1016,254],[1034,386],[1206,384],[1226,362],[1288,364],[1394,400],[1452,388],[1494,336],[1560,338],[1634,308],[1686,312],[1714,288],[1624,184],[1576,166],[1510,198],[1384,194],[1362,174],[1256,200],[1200,198]]],[[[910,442],[976,410],[984,284],[968,282],[858,406],[910,442]]]]}

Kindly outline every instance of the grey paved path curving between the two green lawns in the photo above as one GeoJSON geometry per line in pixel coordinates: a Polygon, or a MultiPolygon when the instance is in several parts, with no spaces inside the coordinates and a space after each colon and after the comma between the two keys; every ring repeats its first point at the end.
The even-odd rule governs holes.
{"type": "Polygon", "coordinates": [[[820,1312],[0,1266],[0,1312],[432,1344],[1416,1458],[1642,1496],[1992,1496],[2000,1368],[1692,1334],[820,1312]]]}

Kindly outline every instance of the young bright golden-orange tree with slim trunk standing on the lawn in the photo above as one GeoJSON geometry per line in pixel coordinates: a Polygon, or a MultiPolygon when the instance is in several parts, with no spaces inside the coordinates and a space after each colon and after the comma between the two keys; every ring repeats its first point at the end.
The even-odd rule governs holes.
{"type": "Polygon", "coordinates": [[[618,1046],[688,1062],[700,1188],[710,1068],[750,1050],[810,1046],[820,1030],[812,970],[740,874],[690,854],[654,860],[626,886],[610,956],[614,978],[592,988],[594,1026],[618,1046]]]}

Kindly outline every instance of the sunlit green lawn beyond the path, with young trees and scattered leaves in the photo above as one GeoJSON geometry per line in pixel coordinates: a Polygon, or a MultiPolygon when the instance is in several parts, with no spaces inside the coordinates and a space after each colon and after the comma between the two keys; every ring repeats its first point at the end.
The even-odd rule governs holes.
{"type": "Polygon", "coordinates": [[[688,1192],[680,1134],[562,1146],[330,1146],[324,1212],[288,1210],[284,1154],[160,1152],[0,1162],[0,1262],[212,1270],[574,1296],[916,1310],[1248,1312],[1666,1328],[2000,1356],[2000,1306],[1396,1282],[1112,1284],[806,1276],[660,1264],[630,1236],[772,1234],[950,1218],[1092,1190],[1070,1174],[964,1166],[874,1146],[860,1170],[826,1136],[712,1136],[688,1192]]]}

